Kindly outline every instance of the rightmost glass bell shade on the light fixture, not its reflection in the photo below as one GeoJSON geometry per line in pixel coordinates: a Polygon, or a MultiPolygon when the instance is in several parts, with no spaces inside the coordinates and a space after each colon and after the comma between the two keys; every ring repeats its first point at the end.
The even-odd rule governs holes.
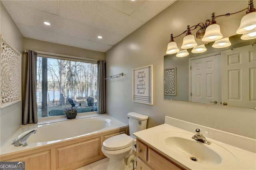
{"type": "Polygon", "coordinates": [[[240,27],[236,30],[236,34],[246,34],[250,32],[256,32],[256,11],[243,16],[240,27]]]}

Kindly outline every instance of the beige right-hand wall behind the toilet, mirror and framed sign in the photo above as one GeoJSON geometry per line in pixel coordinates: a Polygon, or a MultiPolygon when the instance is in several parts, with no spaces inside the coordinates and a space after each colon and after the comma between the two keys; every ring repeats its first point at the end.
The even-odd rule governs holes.
{"type": "MultiPolygon", "coordinates": [[[[236,12],[247,7],[247,1],[176,1],[141,28],[106,52],[107,76],[124,73],[119,79],[107,80],[107,112],[128,123],[127,113],[148,115],[148,127],[164,123],[164,116],[256,138],[256,111],[237,107],[204,105],[164,99],[164,55],[170,34],[174,36],[216,15],[236,12]],[[227,9],[229,8],[230,9],[227,9]],[[154,66],[154,105],[132,102],[132,69],[154,66]]],[[[224,37],[233,36],[245,13],[217,18],[224,37]]],[[[192,32],[195,34],[195,32],[192,32]]],[[[184,36],[176,38],[181,46],[184,36]]],[[[197,40],[198,44],[202,44],[197,40]]]]}

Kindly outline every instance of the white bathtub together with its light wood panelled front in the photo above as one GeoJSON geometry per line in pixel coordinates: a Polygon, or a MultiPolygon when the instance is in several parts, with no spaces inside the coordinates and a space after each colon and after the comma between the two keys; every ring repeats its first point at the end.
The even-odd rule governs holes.
{"type": "Polygon", "coordinates": [[[21,127],[1,147],[0,161],[25,162],[28,169],[79,168],[105,157],[101,152],[104,140],[128,133],[128,125],[108,115],[59,121],[21,127]],[[37,132],[28,138],[28,146],[11,144],[13,138],[20,138],[32,130],[37,132]]]}

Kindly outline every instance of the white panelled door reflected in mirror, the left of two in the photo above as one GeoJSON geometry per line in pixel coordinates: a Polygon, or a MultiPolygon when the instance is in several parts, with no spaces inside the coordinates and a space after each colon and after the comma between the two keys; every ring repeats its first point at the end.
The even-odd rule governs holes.
{"type": "Polygon", "coordinates": [[[191,60],[191,101],[219,104],[220,55],[191,60]]]}

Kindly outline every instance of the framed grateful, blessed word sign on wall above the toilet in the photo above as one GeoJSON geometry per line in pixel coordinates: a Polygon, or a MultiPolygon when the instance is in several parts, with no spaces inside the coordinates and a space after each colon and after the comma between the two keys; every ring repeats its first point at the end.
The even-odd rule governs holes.
{"type": "Polygon", "coordinates": [[[132,101],[153,105],[153,65],[132,70],[132,101]]]}

